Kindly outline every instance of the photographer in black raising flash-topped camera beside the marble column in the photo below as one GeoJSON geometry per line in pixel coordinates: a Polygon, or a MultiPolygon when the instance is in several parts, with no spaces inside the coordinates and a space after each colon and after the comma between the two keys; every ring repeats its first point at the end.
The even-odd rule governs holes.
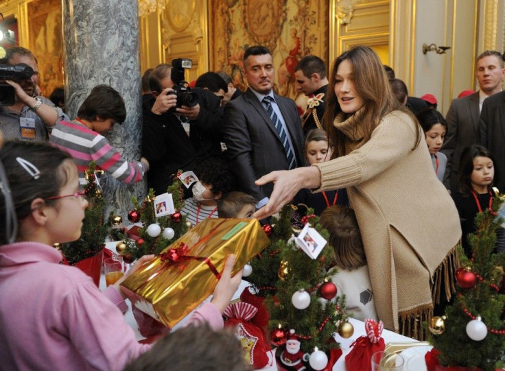
{"type": "MultiPolygon", "coordinates": [[[[221,117],[213,111],[220,101],[208,91],[187,88],[184,70],[190,67],[185,59],[159,64],[150,75],[153,96],[143,101],[142,155],[151,165],[148,187],[156,194],[166,192],[178,169],[192,170],[209,156],[211,139],[220,135],[221,117]]],[[[219,141],[213,145],[218,146],[220,152],[219,141]]]]}

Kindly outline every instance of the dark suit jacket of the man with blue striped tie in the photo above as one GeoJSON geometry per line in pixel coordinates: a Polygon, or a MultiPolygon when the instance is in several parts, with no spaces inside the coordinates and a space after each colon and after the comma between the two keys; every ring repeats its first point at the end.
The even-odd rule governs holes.
{"type": "MultiPolygon", "coordinates": [[[[274,99],[290,134],[296,164],[302,166],[303,132],[296,105],[279,95],[274,99]]],[[[269,197],[273,184],[258,187],[255,180],[270,171],[287,170],[289,164],[274,123],[250,88],[224,106],[223,138],[242,191],[258,201],[269,197]]]]}

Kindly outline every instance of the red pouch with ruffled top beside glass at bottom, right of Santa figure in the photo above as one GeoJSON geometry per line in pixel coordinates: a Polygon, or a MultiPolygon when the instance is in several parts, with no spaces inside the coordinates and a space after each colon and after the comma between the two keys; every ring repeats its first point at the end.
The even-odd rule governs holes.
{"type": "Polygon", "coordinates": [[[375,352],[380,352],[386,348],[382,339],[382,329],[384,324],[374,320],[365,320],[366,336],[358,337],[351,344],[351,352],[345,356],[345,367],[347,370],[371,370],[371,359],[375,352]]]}

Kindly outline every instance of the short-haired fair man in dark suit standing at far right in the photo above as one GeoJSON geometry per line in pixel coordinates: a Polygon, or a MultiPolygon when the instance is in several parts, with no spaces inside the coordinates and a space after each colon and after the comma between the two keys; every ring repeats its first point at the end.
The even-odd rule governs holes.
{"type": "Polygon", "coordinates": [[[451,192],[457,192],[460,157],[463,149],[480,143],[479,115],[484,99],[502,90],[501,82],[505,73],[502,54],[487,50],[477,57],[475,75],[480,91],[467,97],[454,99],[445,120],[447,134],[441,152],[447,156],[444,185],[451,192]]]}

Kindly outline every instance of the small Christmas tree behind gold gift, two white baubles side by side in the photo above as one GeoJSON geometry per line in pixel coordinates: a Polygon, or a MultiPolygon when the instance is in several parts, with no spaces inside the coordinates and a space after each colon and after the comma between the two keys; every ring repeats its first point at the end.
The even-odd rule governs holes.
{"type": "MultiPolygon", "coordinates": [[[[179,175],[179,174],[178,174],[179,175]]],[[[152,189],[140,204],[137,198],[132,198],[134,209],[128,213],[130,222],[141,222],[136,239],[124,237],[122,243],[117,244],[117,252],[123,255],[126,263],[131,263],[143,255],[159,254],[170,245],[171,241],[184,235],[191,223],[186,221],[186,216],[180,213],[184,205],[183,184],[179,178],[167,187],[167,193],[172,194],[175,213],[163,217],[156,217],[154,213],[154,200],[156,196],[152,189]]]]}

